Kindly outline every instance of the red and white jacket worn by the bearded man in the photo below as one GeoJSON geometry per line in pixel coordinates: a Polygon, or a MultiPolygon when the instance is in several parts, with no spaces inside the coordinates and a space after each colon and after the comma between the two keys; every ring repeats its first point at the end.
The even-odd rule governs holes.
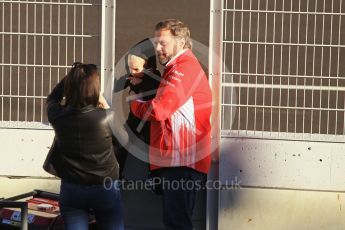
{"type": "Polygon", "coordinates": [[[164,69],[156,97],[131,102],[131,111],[151,121],[151,170],[187,166],[208,173],[211,162],[212,94],[207,77],[191,50],[164,69]]]}

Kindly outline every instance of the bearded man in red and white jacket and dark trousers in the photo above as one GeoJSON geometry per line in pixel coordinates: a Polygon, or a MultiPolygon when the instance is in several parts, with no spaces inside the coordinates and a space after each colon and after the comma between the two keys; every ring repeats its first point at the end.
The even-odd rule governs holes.
{"type": "Polygon", "coordinates": [[[132,101],[131,110],[151,121],[150,165],[162,179],[164,224],[193,229],[196,190],[210,168],[211,89],[183,22],[159,22],[155,45],[165,66],[156,97],[132,101]]]}

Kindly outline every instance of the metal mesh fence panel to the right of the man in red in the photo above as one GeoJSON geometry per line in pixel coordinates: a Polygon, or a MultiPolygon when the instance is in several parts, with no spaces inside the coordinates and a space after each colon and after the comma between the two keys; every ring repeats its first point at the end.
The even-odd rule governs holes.
{"type": "Polygon", "coordinates": [[[344,141],[342,0],[223,6],[223,136],[344,141]]]}

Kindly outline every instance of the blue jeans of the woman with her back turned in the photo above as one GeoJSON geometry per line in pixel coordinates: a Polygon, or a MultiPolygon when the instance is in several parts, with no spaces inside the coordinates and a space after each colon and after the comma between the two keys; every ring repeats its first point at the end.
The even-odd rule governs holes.
{"type": "Polygon", "coordinates": [[[118,181],[112,186],[83,186],[61,181],[60,210],[66,230],[87,230],[90,209],[98,229],[123,230],[122,200],[118,181]]]}

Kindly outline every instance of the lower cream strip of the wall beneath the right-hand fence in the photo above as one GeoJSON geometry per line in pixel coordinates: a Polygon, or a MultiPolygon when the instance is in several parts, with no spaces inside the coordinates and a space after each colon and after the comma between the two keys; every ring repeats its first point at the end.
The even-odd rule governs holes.
{"type": "Polygon", "coordinates": [[[343,230],[345,193],[241,188],[220,192],[220,230],[343,230]]]}

